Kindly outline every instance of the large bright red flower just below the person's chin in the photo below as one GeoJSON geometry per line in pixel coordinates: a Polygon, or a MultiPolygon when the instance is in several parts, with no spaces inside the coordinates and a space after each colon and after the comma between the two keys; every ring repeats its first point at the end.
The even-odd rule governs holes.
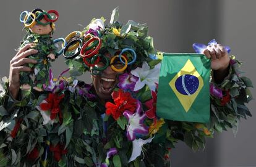
{"type": "Polygon", "coordinates": [[[106,103],[107,115],[112,115],[117,120],[125,110],[129,110],[130,112],[135,111],[137,100],[132,98],[129,92],[123,92],[122,89],[119,89],[118,92],[113,91],[111,96],[115,104],[111,102],[106,103]]]}

